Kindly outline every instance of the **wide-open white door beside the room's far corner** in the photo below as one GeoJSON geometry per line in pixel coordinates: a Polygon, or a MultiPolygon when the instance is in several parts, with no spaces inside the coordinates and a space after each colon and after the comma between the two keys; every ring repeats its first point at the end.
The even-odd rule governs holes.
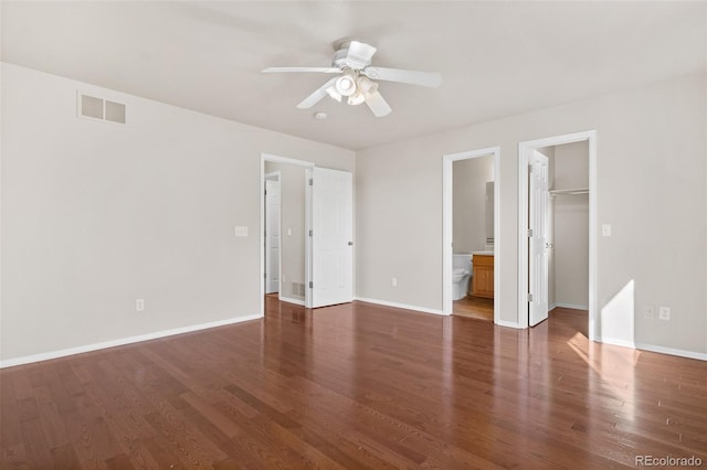
{"type": "Polygon", "coordinates": [[[312,186],[312,307],[354,300],[354,178],[315,168],[312,186]]]}

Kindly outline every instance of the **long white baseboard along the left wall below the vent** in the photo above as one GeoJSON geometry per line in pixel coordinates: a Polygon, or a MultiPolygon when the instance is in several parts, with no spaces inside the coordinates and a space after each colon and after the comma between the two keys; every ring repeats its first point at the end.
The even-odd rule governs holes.
{"type": "Polygon", "coordinates": [[[67,355],[81,354],[106,348],[122,346],[125,344],[139,343],[140,341],[157,340],[159,338],[172,337],[175,334],[190,333],[192,331],[207,330],[209,328],[224,327],[226,324],[241,323],[243,321],[257,320],[262,314],[251,314],[245,317],[229,318],[225,320],[211,321],[208,323],[192,324],[189,327],[173,328],[170,330],[156,331],[154,333],[138,334],[136,337],[119,338],[117,340],[104,341],[101,343],[86,344],[83,346],[68,348],[65,350],[50,351],[41,354],[25,355],[21,357],[0,361],[0,368],[12,367],[13,365],[30,364],[32,362],[49,361],[50,359],[64,357],[67,355]]]}

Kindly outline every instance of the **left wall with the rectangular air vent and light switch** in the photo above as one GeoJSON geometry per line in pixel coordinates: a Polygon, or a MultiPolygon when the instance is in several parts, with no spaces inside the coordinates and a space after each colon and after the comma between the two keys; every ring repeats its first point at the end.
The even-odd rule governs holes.
{"type": "Polygon", "coordinates": [[[1,78],[6,362],[258,314],[261,152],[355,167],[349,150],[11,64],[1,78]],[[127,104],[128,124],[77,118],[76,89],[127,104]]]}

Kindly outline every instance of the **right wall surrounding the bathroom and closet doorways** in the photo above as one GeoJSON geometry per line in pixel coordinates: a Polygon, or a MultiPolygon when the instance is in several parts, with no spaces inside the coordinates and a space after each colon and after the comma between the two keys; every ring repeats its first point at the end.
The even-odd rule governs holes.
{"type": "Polygon", "coordinates": [[[599,226],[613,225],[598,243],[599,308],[632,281],[636,306],[603,312],[599,335],[623,340],[611,327],[635,322],[631,340],[704,353],[706,89],[693,74],[359,151],[357,296],[442,308],[442,156],[500,146],[500,320],[517,323],[518,142],[597,129],[599,226]],[[673,320],[643,318],[648,303],[673,320]]]}

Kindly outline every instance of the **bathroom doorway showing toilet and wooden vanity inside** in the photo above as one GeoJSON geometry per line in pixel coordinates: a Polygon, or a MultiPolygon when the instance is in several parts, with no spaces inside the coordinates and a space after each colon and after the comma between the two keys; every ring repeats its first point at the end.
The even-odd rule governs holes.
{"type": "Polygon", "coordinates": [[[499,149],[443,159],[443,311],[498,322],[499,149]]]}

